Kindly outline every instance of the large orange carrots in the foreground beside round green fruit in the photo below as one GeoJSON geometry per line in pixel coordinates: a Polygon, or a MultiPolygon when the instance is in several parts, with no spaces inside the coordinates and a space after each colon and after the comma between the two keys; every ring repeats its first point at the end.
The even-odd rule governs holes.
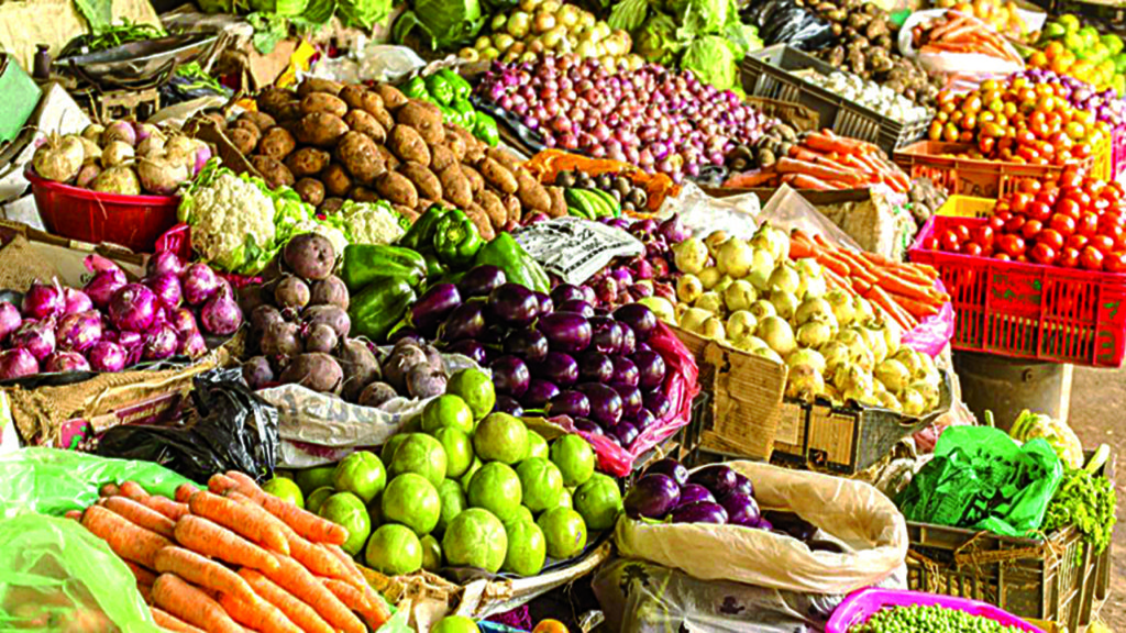
{"type": "Polygon", "coordinates": [[[387,621],[340,547],[347,531],[242,473],[216,474],[208,490],[184,484],[175,500],[129,481],[100,493],[68,516],[125,560],[167,631],[366,633],[387,621]]]}

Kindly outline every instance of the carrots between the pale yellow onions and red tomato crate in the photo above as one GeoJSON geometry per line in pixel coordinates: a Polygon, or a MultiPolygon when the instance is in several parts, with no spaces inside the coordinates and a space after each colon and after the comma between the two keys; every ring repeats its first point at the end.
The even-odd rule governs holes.
{"type": "Polygon", "coordinates": [[[834,247],[820,234],[795,229],[789,238],[789,258],[812,257],[825,270],[830,286],[868,300],[884,319],[904,331],[927,316],[938,314],[949,295],[935,288],[938,271],[921,264],[892,261],[881,255],[834,247]]]}

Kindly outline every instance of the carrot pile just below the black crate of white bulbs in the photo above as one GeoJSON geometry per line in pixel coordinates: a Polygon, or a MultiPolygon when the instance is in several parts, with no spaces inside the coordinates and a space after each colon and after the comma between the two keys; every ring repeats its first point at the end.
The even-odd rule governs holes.
{"type": "Polygon", "coordinates": [[[759,169],[729,178],[724,187],[777,187],[831,191],[887,185],[908,193],[911,180],[876,145],[838,136],[830,130],[810,132],[796,143],[786,143],[785,155],[759,152],[759,169]]]}

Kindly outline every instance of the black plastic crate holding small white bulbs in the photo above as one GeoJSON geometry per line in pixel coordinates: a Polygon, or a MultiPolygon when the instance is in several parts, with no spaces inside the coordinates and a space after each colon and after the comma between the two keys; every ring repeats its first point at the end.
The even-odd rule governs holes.
{"type": "Polygon", "coordinates": [[[740,64],[743,90],[751,97],[801,104],[817,113],[819,127],[869,141],[891,154],[922,137],[930,118],[904,124],[802,79],[797,72],[829,75],[837,69],[785,44],[750,53],[740,64]]]}

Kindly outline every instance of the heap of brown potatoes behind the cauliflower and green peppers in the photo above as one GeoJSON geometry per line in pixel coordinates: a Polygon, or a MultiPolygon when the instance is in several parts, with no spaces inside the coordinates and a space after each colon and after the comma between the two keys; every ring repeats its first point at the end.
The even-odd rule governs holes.
{"type": "Polygon", "coordinates": [[[444,124],[437,106],[393,86],[311,78],[296,91],[263,90],[257,104],[227,137],[267,185],[293,187],[325,213],[346,198],[386,199],[413,220],[441,203],[464,209],[486,239],[525,215],[566,214],[562,191],[548,191],[510,152],[444,124]]]}

